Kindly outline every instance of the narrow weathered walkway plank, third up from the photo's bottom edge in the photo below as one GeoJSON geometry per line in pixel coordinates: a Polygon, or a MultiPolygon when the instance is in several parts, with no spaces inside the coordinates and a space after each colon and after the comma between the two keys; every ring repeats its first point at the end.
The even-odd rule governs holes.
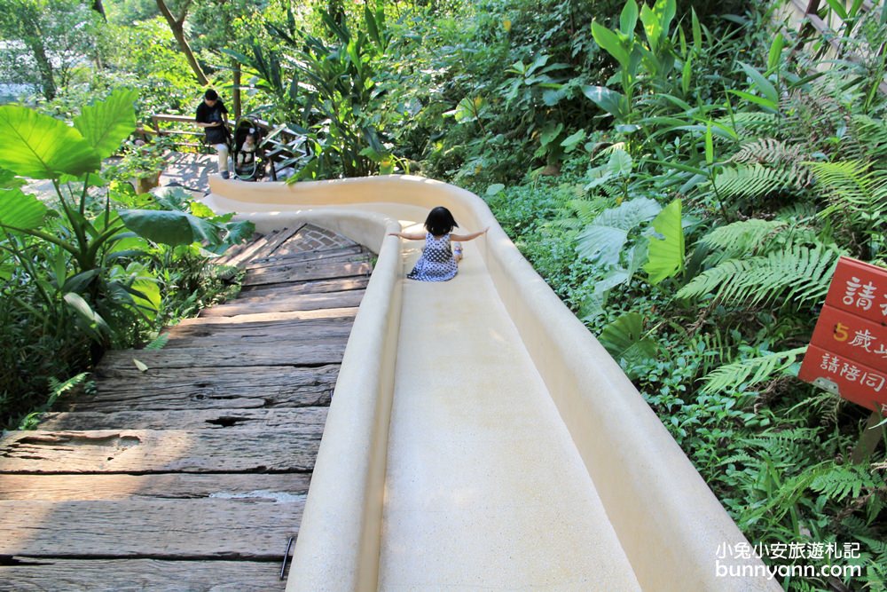
{"type": "Polygon", "coordinates": [[[289,500],[308,493],[307,473],[156,473],[153,475],[4,475],[0,500],[289,500]]]}

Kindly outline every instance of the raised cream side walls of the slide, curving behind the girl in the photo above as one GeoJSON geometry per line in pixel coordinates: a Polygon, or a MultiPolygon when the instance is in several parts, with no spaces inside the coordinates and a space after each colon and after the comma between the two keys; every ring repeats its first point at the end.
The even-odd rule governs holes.
{"type": "Polygon", "coordinates": [[[414,177],[297,185],[213,179],[211,188],[208,204],[214,209],[257,221],[310,218],[379,253],[345,352],[288,591],[376,588],[403,273],[399,241],[385,233],[399,227],[401,212],[409,212],[404,217],[415,222],[417,208],[436,205],[450,208],[465,228],[491,226],[483,249],[487,270],[641,587],[781,589],[754,557],[718,560],[719,549],[747,543],[742,533],[621,368],[532,269],[476,195],[414,177]],[[355,224],[357,219],[363,222],[355,224]]]}

